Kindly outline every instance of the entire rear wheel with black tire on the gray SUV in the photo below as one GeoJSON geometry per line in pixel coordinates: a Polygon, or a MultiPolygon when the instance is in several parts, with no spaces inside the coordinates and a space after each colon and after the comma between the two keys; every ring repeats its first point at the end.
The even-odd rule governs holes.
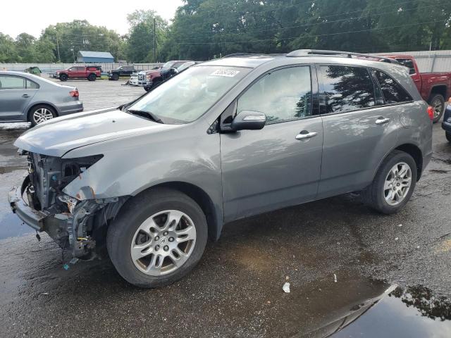
{"type": "Polygon", "coordinates": [[[410,197],[412,196],[412,193],[415,189],[416,177],[417,169],[414,158],[412,158],[412,156],[410,156],[409,154],[404,153],[404,151],[393,151],[382,162],[380,168],[378,169],[378,172],[376,173],[376,176],[374,177],[373,183],[371,183],[369,187],[366,187],[366,189],[364,189],[364,192],[362,194],[364,203],[374,210],[380,213],[385,213],[386,215],[397,213],[401,208],[405,206],[405,204],[407,204],[410,197]],[[402,167],[400,167],[400,163],[403,163],[404,165],[407,165],[409,167],[410,171],[405,175],[405,177],[407,177],[408,174],[410,176],[409,189],[404,189],[402,187],[403,184],[406,184],[405,182],[407,182],[406,178],[402,178],[398,182],[396,180],[396,177],[393,177],[393,175],[390,174],[390,172],[392,172],[392,169],[395,168],[395,165],[397,165],[397,169],[400,169],[400,172],[403,171],[402,167]],[[390,187],[385,186],[386,182],[387,184],[388,182],[390,182],[390,184],[394,182],[395,187],[393,187],[394,184],[391,184],[390,187]],[[402,199],[400,198],[400,195],[397,195],[393,189],[401,190],[402,199]],[[398,198],[398,201],[391,201],[390,197],[393,196],[396,196],[398,198]]]}

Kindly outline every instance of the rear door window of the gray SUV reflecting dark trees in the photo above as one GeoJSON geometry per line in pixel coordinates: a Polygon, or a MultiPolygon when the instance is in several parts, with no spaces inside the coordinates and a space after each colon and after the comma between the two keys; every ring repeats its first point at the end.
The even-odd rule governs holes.
{"type": "Polygon", "coordinates": [[[374,84],[366,68],[321,66],[326,113],[342,113],[376,106],[374,84]]]}

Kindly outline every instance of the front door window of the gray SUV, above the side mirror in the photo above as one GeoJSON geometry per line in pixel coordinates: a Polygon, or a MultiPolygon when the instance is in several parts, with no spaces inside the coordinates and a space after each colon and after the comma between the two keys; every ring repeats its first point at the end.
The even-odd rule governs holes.
{"type": "Polygon", "coordinates": [[[284,68],[265,75],[238,99],[240,111],[265,113],[266,123],[311,115],[310,68],[284,68]]]}

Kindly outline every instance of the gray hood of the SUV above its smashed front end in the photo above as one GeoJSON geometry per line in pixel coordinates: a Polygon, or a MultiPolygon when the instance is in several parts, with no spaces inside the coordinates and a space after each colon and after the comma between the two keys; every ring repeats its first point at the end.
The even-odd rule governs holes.
{"type": "Polygon", "coordinates": [[[41,123],[20,135],[14,145],[32,153],[62,157],[80,146],[173,127],[107,108],[41,123]]]}

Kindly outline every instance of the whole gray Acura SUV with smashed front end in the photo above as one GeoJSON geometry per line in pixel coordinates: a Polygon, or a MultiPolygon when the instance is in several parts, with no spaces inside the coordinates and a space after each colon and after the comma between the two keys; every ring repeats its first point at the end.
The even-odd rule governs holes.
{"type": "MultiPolygon", "coordinates": [[[[380,56],[377,56],[381,60],[380,56]]],[[[119,108],[55,118],[15,145],[13,211],[128,282],[159,287],[239,218],[362,191],[400,210],[431,159],[432,121],[407,68],[331,51],[232,55],[119,108]]]]}

